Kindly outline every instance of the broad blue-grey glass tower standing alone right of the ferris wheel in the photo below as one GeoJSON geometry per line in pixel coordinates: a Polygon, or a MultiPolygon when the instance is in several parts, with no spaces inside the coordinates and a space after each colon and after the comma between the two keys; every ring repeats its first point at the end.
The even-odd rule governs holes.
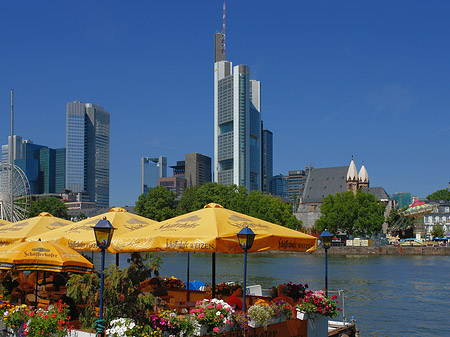
{"type": "Polygon", "coordinates": [[[74,101],[66,109],[66,189],[97,207],[109,206],[110,116],[99,105],[74,101]]]}

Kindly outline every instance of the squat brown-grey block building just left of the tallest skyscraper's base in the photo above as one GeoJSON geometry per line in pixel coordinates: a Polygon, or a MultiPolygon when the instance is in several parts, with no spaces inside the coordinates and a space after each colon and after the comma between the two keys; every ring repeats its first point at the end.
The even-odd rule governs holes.
{"type": "Polygon", "coordinates": [[[200,186],[211,182],[211,158],[200,153],[185,155],[185,173],[187,187],[200,186]]]}

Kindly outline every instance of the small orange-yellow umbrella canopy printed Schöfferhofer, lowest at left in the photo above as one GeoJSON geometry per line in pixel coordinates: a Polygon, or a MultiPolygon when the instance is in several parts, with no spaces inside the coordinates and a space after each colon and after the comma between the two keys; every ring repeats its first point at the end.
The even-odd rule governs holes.
{"type": "Polygon", "coordinates": [[[33,241],[0,248],[0,269],[90,273],[93,265],[69,247],[33,241]]]}

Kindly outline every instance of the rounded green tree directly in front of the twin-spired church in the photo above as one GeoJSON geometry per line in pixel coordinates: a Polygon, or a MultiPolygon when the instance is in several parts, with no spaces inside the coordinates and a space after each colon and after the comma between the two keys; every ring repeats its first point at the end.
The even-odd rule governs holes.
{"type": "Polygon", "coordinates": [[[347,235],[375,235],[382,230],[385,208],[373,194],[361,190],[356,196],[352,191],[330,194],[320,206],[322,216],[317,220],[315,229],[347,235]]]}

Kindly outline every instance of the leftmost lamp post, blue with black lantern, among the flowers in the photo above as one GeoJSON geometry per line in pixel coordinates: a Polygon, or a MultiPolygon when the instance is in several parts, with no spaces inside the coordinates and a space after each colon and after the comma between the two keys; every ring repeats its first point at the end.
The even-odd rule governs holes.
{"type": "Polygon", "coordinates": [[[105,269],[105,249],[111,244],[115,228],[108,220],[106,220],[106,217],[97,222],[92,228],[94,229],[97,246],[102,250],[102,266],[100,270],[100,314],[99,321],[96,323],[96,329],[97,335],[103,335],[105,330],[103,323],[103,270],[105,269]]]}

